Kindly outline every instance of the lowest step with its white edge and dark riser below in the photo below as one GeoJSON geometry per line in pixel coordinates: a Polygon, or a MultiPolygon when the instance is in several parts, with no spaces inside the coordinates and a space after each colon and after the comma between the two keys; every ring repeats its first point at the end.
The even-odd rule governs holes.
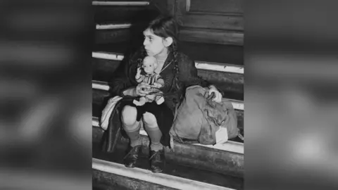
{"type": "MultiPolygon", "coordinates": [[[[111,189],[231,189],[167,173],[155,174],[144,168],[127,168],[120,163],[98,158],[93,158],[92,163],[93,186],[100,184],[103,189],[107,187],[111,189]]],[[[234,182],[235,180],[232,180],[232,184],[234,182]]],[[[237,186],[239,187],[237,189],[243,189],[242,186],[237,186]]]]}

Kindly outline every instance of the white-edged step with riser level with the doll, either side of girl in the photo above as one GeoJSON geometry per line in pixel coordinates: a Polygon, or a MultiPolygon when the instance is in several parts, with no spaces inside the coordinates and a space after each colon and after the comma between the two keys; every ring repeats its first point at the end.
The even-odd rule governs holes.
{"type": "MultiPolygon", "coordinates": [[[[96,51],[92,53],[92,79],[108,82],[124,56],[120,53],[96,51]]],[[[123,61],[122,61],[123,63],[123,61]]],[[[232,99],[244,99],[244,67],[227,63],[195,61],[198,75],[215,84],[232,99]]]]}

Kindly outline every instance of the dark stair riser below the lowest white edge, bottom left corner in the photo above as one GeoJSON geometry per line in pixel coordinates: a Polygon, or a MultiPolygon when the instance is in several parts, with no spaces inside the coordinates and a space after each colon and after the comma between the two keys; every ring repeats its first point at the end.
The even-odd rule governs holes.
{"type": "Polygon", "coordinates": [[[150,182],[144,182],[138,179],[130,177],[124,177],[115,175],[108,172],[102,172],[100,170],[93,170],[92,172],[93,186],[97,186],[97,189],[113,190],[113,189],[149,189],[149,190],[174,190],[168,186],[162,186],[159,184],[153,184],[150,182]]]}

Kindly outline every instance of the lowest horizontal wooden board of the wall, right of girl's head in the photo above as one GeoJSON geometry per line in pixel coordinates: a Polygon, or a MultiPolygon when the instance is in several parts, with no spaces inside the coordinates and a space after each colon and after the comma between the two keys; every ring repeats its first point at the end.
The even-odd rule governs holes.
{"type": "Polygon", "coordinates": [[[204,42],[243,46],[244,34],[242,32],[185,29],[180,31],[180,40],[184,40],[186,42],[204,42]]]}

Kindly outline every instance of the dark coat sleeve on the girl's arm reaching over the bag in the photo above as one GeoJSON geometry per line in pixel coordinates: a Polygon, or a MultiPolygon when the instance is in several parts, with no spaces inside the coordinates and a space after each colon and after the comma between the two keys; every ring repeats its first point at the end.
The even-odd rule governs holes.
{"type": "MultiPolygon", "coordinates": [[[[209,87],[211,84],[210,82],[202,79],[199,77],[197,68],[195,66],[195,62],[192,61],[188,56],[181,55],[180,56],[180,62],[179,62],[179,80],[184,84],[184,88],[193,86],[193,85],[199,85],[201,87],[209,87]]],[[[216,87],[215,85],[213,85],[216,87]]],[[[224,92],[220,90],[218,87],[216,87],[218,91],[224,96],[224,92]]]]}

